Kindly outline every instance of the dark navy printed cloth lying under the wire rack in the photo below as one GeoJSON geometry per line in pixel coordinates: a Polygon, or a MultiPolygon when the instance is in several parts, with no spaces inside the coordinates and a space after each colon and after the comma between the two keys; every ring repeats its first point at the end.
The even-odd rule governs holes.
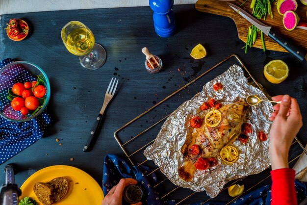
{"type": "MultiPolygon", "coordinates": [[[[161,205],[162,202],[158,197],[158,193],[154,191],[153,185],[158,183],[155,174],[151,174],[146,178],[146,174],[152,170],[148,167],[141,165],[139,167],[130,166],[129,163],[115,154],[108,154],[104,158],[103,165],[103,178],[102,190],[104,196],[109,190],[116,185],[122,178],[133,178],[138,181],[143,189],[145,199],[143,204],[147,205],[161,205]]],[[[295,189],[297,193],[298,203],[302,202],[307,196],[307,182],[295,180],[295,189]]],[[[163,194],[163,193],[161,193],[163,194]]],[[[193,196],[192,196],[193,197],[193,196]]],[[[226,205],[225,202],[207,202],[203,205],[226,205]]],[[[176,204],[174,200],[165,201],[164,204],[176,204]]],[[[271,185],[262,186],[237,200],[233,201],[230,205],[270,205],[271,204],[271,185]]],[[[127,203],[123,200],[123,205],[127,203]]],[[[193,205],[202,205],[202,203],[195,203],[193,205]]]]}

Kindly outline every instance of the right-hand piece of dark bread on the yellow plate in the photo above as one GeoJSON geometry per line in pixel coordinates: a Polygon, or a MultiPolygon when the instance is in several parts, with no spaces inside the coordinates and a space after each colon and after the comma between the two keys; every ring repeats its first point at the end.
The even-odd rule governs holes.
{"type": "Polygon", "coordinates": [[[52,199],[54,203],[62,200],[68,192],[69,183],[65,177],[54,178],[47,184],[53,187],[53,196],[52,199]]]}

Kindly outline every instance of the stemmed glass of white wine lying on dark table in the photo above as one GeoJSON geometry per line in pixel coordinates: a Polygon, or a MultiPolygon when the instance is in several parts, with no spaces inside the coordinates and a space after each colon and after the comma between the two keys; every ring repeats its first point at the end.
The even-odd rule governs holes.
{"type": "Polygon", "coordinates": [[[95,43],[94,35],[87,26],[78,21],[68,22],[62,28],[61,37],[66,49],[79,56],[84,68],[95,70],[102,67],[106,52],[95,43]]]}

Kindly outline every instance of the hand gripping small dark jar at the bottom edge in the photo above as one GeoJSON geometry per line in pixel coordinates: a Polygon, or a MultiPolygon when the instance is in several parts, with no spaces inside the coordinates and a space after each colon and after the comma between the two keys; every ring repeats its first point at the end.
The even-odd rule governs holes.
{"type": "MultiPolygon", "coordinates": [[[[111,188],[102,200],[102,205],[122,205],[123,191],[129,184],[136,184],[135,179],[121,179],[119,183],[111,188]]],[[[142,205],[142,202],[131,205],[142,205]]]]}

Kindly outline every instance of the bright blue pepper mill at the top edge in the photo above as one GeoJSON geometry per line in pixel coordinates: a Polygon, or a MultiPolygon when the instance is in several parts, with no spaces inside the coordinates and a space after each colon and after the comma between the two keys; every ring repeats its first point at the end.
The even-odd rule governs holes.
{"type": "Polygon", "coordinates": [[[153,10],[153,26],[161,37],[170,37],[175,32],[174,0],[149,0],[153,10]]]}

